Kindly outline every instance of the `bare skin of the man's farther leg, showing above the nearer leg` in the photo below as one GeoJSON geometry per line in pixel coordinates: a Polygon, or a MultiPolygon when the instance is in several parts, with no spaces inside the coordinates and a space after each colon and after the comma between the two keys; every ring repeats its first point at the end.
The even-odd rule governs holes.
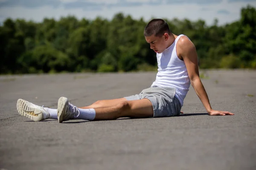
{"type": "Polygon", "coordinates": [[[97,102],[94,102],[90,106],[85,106],[85,107],[79,107],[81,109],[95,109],[95,108],[108,108],[111,106],[115,106],[120,102],[127,101],[125,98],[119,98],[119,99],[111,99],[111,100],[98,100],[97,102]]]}

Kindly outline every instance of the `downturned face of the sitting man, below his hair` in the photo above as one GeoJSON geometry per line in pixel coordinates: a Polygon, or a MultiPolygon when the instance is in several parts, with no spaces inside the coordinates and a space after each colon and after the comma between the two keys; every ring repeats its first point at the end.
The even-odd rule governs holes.
{"type": "Polygon", "coordinates": [[[154,35],[145,37],[146,41],[150,44],[150,49],[154,50],[155,53],[162,53],[167,48],[168,38],[169,35],[167,33],[160,37],[156,37],[154,35]]]}

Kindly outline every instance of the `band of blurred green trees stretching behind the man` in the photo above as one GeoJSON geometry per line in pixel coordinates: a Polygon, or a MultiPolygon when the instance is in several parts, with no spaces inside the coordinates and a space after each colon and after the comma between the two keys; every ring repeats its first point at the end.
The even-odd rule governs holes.
{"type": "MultiPolygon", "coordinates": [[[[163,18],[165,19],[165,18],[163,18]]],[[[218,26],[165,19],[176,35],[194,42],[200,68],[256,68],[256,9],[218,26]]],[[[143,36],[148,21],[116,14],[112,20],[45,18],[42,23],[6,19],[0,26],[0,73],[155,70],[156,57],[143,36]]]]}

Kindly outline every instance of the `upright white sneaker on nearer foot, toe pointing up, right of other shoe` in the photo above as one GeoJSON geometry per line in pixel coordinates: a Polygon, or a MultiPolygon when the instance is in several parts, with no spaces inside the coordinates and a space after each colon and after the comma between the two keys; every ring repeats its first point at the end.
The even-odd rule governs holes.
{"type": "Polygon", "coordinates": [[[75,115],[79,114],[79,110],[76,106],[70,104],[66,97],[58,99],[58,122],[61,123],[66,120],[74,119],[75,115]]]}

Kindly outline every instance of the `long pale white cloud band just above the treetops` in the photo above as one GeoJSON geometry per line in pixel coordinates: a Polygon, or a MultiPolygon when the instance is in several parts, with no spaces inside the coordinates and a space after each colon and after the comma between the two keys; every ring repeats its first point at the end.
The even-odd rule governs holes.
{"type": "MultiPolygon", "coordinates": [[[[69,1],[72,0],[62,0],[69,1]]],[[[73,0],[74,1],[74,0],[73,0]]],[[[93,2],[93,0],[91,0],[93,2]]],[[[97,0],[101,2],[103,0],[97,0]]],[[[110,0],[108,2],[113,3],[116,0],[110,0]]],[[[131,1],[131,0],[129,0],[131,1]]],[[[139,1],[139,0],[138,0],[139,1]]],[[[95,0],[96,2],[96,0],[95,0]]],[[[251,5],[256,6],[256,2],[250,2],[251,5]]],[[[215,18],[219,20],[219,24],[230,23],[240,18],[240,10],[242,7],[246,7],[247,3],[244,2],[233,2],[228,3],[227,0],[221,3],[211,4],[211,5],[200,5],[200,4],[163,4],[163,5],[143,5],[143,6],[112,6],[111,8],[102,8],[102,10],[84,10],[83,8],[64,8],[60,6],[58,8],[53,8],[50,6],[41,6],[37,8],[26,8],[26,7],[4,7],[0,10],[0,21],[6,19],[6,17],[11,18],[25,18],[26,20],[34,20],[41,22],[44,17],[53,17],[59,19],[62,16],[75,15],[78,19],[83,17],[88,19],[94,19],[97,16],[102,16],[103,18],[111,19],[114,14],[122,12],[125,15],[130,14],[134,19],[139,19],[143,17],[145,20],[150,20],[151,17],[157,18],[168,18],[173,19],[177,17],[178,19],[187,18],[189,20],[198,20],[201,18],[205,20],[208,25],[212,25],[215,18]],[[208,8],[209,10],[202,10],[203,8],[208,8]],[[225,9],[229,14],[218,14],[218,10],[225,9]]]]}

